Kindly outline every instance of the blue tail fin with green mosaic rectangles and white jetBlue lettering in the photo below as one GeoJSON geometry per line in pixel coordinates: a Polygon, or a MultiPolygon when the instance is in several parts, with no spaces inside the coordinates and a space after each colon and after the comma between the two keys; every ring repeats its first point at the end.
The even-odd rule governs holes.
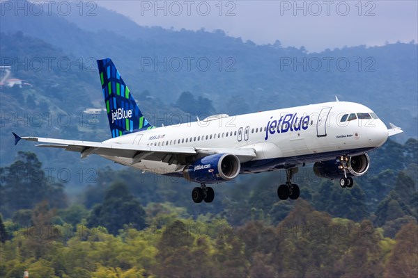
{"type": "Polygon", "coordinates": [[[153,129],[154,126],[142,115],[111,59],[98,60],[98,67],[111,138],[153,129]]]}

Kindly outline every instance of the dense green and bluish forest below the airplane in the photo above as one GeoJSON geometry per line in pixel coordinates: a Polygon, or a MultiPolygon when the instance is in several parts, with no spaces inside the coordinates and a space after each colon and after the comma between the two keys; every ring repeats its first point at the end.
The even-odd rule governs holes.
{"type": "Polygon", "coordinates": [[[0,276],[416,277],[417,150],[389,140],[350,189],[309,167],[296,201],[279,201],[273,172],[203,206],[187,181],[109,167],[71,198],[19,152],[0,169],[0,276]]]}

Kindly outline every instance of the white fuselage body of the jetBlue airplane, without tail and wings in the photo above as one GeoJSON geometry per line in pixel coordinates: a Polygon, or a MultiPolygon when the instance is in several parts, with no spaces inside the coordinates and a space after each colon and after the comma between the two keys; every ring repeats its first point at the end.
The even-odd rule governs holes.
{"type": "MultiPolygon", "coordinates": [[[[261,169],[269,170],[269,167],[277,169],[279,164],[308,163],[343,154],[361,154],[386,142],[388,131],[378,118],[341,122],[343,115],[352,113],[373,111],[362,104],[334,101],[238,116],[218,115],[199,122],[131,133],[105,142],[202,149],[252,148],[256,157],[251,161],[274,161],[279,158],[261,169]]],[[[181,170],[178,165],[159,161],[144,159],[132,164],[130,158],[104,157],[160,174],[181,170]]],[[[248,170],[252,167],[251,161],[248,161],[246,172],[252,172],[248,170]]],[[[254,172],[258,170],[254,168],[254,172]]]]}

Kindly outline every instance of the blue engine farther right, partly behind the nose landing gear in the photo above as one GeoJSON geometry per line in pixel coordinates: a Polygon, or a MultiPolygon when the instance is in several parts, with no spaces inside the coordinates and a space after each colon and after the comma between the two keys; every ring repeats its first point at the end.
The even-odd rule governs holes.
{"type": "MultiPolygon", "coordinates": [[[[369,170],[370,158],[367,154],[350,156],[347,161],[347,176],[359,177],[369,170]]],[[[327,179],[339,179],[343,177],[343,170],[340,168],[339,160],[321,161],[314,164],[314,172],[318,177],[327,179]]]]}

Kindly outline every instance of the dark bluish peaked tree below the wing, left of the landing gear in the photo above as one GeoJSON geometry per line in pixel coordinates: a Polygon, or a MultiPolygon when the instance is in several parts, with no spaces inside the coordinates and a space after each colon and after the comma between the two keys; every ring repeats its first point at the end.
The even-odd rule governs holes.
{"type": "Polygon", "coordinates": [[[88,227],[103,226],[110,234],[118,234],[124,224],[144,229],[144,208],[127,189],[125,183],[115,182],[107,190],[102,204],[96,204],[87,218],[88,227]]]}

